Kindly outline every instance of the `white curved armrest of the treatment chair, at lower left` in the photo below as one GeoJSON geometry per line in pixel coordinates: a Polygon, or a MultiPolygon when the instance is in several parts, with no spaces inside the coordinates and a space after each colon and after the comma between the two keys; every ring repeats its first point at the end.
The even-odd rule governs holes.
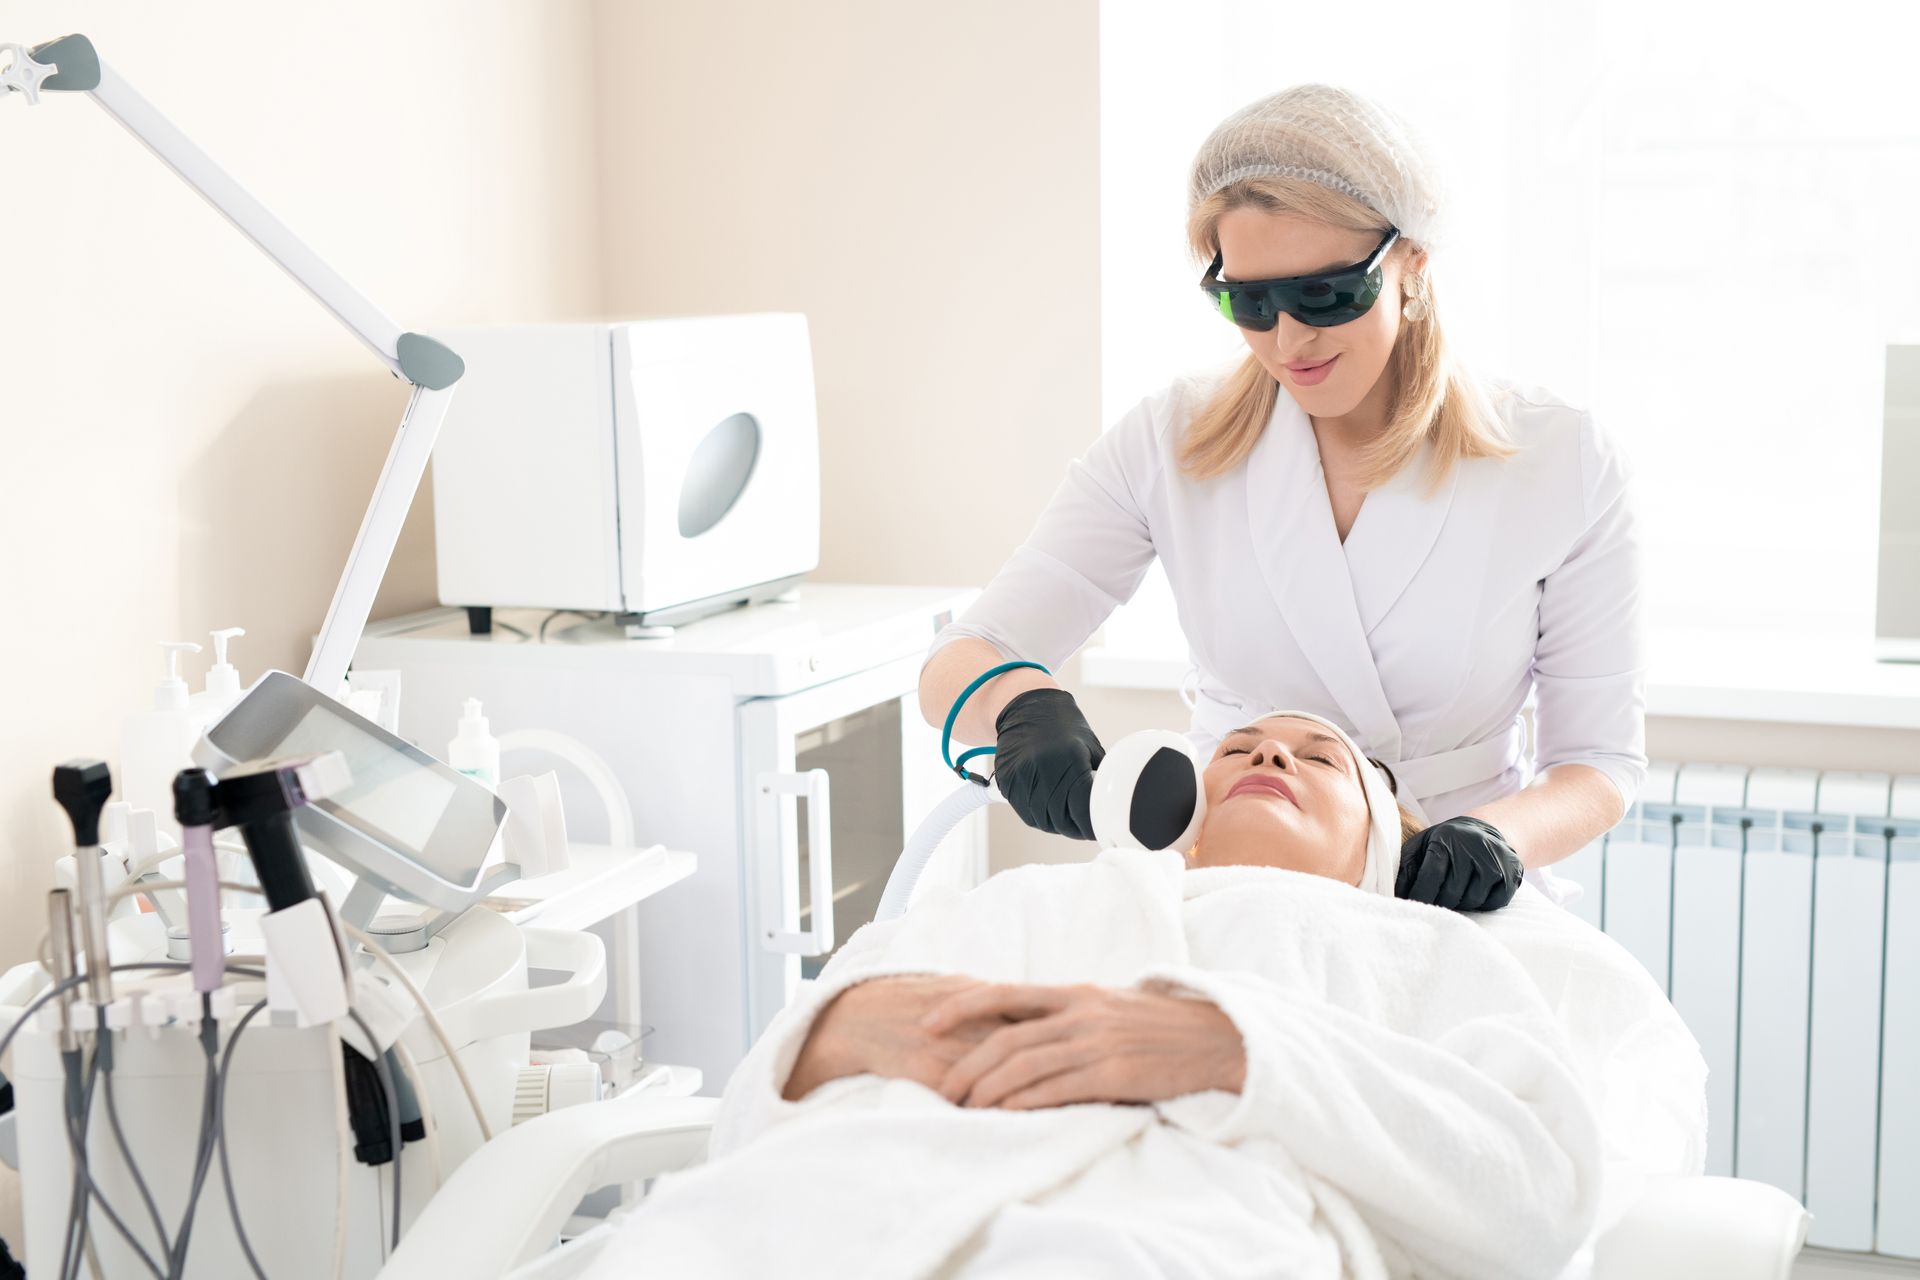
{"type": "Polygon", "coordinates": [[[707,1159],[718,1098],[637,1090],[509,1128],[453,1171],[380,1280],[503,1276],[559,1240],[580,1197],[707,1159]]]}

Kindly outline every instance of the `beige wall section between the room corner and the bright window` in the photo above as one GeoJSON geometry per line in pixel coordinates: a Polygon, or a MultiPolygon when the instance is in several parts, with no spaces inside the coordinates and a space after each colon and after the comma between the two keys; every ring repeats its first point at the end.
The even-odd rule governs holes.
{"type": "Polygon", "coordinates": [[[609,311],[804,311],[818,576],[983,583],[1102,426],[1096,2],[597,15],[609,311]]]}

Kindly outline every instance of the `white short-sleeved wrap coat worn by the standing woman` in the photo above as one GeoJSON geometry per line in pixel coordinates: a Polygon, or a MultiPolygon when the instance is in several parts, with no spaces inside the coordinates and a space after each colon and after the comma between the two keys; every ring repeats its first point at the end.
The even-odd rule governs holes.
{"type": "Polygon", "coordinates": [[[1206,750],[1263,710],[1306,708],[1388,764],[1427,821],[1553,764],[1605,773],[1624,812],[1647,768],[1645,601],[1619,441],[1538,388],[1488,384],[1519,453],[1459,462],[1428,497],[1423,447],[1342,543],[1313,424],[1284,390],[1240,466],[1181,472],[1181,432],[1215,380],[1175,380],[1094,441],[933,647],[973,635],[1058,670],[1158,555],[1206,750]]]}

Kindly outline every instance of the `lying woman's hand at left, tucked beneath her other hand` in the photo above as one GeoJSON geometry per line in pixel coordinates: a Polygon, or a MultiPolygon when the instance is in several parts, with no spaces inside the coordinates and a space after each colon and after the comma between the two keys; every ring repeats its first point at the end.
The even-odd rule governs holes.
{"type": "Polygon", "coordinates": [[[937,1088],[947,1069],[1004,1019],[985,1015],[929,1032],[920,1027],[920,1015],[945,996],[975,986],[985,983],[941,975],[885,977],[849,986],[814,1017],[783,1096],[797,1102],[828,1080],[866,1073],[937,1088]]]}

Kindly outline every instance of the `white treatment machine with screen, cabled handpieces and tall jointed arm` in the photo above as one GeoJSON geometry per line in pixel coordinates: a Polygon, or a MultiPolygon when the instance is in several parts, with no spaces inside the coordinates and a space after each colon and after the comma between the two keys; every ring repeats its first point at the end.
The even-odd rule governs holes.
{"type": "MultiPolygon", "coordinates": [[[[599,940],[482,906],[522,862],[564,856],[551,779],[503,787],[524,796],[509,808],[324,697],[346,691],[465,367],[353,290],[86,36],[0,44],[0,98],[60,92],[90,96],[413,395],[305,677],[263,677],[194,747],[204,768],[169,775],[179,844],[154,810],[108,810],[104,762],[56,770],[75,848],[38,960],[0,975],[15,1103],[0,1157],[23,1174],[27,1261],[63,1278],[83,1259],[109,1280],[367,1276],[470,1151],[601,1096],[611,1067],[530,1065],[532,1031],[599,1006],[599,940]]],[[[693,1092],[699,1073],[634,1086],[693,1092]]]]}

